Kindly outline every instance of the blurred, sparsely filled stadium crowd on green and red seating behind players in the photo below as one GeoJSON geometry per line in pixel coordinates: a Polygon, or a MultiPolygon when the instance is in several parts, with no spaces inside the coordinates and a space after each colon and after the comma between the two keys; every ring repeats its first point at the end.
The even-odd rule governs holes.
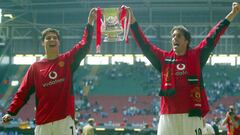
{"type": "MultiPolygon", "coordinates": [[[[6,112],[17,86],[13,80],[21,81],[16,73],[26,71],[28,66],[10,66],[8,78],[4,78],[0,88],[0,115],[6,112]],[[6,98],[7,91],[9,96],[6,98]],[[4,101],[6,100],[6,101],[4,101]]],[[[216,124],[220,130],[229,105],[240,112],[240,74],[239,67],[229,65],[206,66],[204,69],[205,86],[211,111],[206,117],[209,124],[216,124]]],[[[76,95],[76,124],[81,129],[89,118],[95,118],[97,127],[142,128],[148,125],[155,129],[159,118],[159,85],[161,77],[152,66],[143,62],[134,65],[117,63],[115,65],[80,66],[74,76],[76,95]],[[95,72],[92,72],[92,71],[95,72]]],[[[181,105],[181,103],[179,103],[181,105]]],[[[34,127],[34,96],[30,103],[19,113],[11,124],[19,126],[28,122],[34,127]]],[[[10,125],[11,125],[10,124],[10,125]]]]}

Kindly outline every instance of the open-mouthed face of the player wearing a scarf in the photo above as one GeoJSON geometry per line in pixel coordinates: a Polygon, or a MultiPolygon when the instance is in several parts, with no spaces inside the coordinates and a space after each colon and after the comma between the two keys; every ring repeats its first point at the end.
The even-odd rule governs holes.
{"type": "Polygon", "coordinates": [[[176,55],[184,55],[187,50],[188,40],[180,30],[174,30],[172,33],[172,48],[176,55]]]}

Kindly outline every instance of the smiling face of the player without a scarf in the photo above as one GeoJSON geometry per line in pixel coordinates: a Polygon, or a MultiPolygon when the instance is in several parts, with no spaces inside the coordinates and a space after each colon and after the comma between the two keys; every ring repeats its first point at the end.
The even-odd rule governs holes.
{"type": "Polygon", "coordinates": [[[45,51],[59,51],[60,42],[58,36],[53,32],[46,34],[42,44],[45,51]]]}

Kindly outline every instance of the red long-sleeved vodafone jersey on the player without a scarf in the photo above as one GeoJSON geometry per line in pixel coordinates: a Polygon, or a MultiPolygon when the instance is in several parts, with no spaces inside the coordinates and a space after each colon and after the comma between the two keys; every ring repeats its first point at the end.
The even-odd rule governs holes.
{"type": "Polygon", "coordinates": [[[25,74],[8,113],[16,115],[36,93],[36,124],[44,124],[71,115],[74,118],[73,72],[89,52],[93,27],[87,25],[82,40],[54,60],[33,63],[25,74]]]}

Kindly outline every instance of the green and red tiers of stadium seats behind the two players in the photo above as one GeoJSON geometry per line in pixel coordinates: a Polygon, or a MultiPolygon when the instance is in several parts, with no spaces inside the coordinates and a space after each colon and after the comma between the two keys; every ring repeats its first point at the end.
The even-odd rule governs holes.
{"type": "MultiPolygon", "coordinates": [[[[209,113],[209,118],[213,118],[214,116],[222,116],[224,114],[224,111],[226,110],[222,110],[220,112],[216,111],[218,110],[219,106],[222,105],[224,108],[226,108],[228,105],[237,103],[237,101],[239,101],[239,68],[233,68],[232,66],[225,65],[216,66],[206,66],[204,69],[204,78],[207,80],[205,85],[212,108],[211,110],[215,110],[209,113]],[[227,79],[229,79],[230,84],[227,79]]],[[[16,72],[19,72],[20,69],[21,72],[26,72],[27,67],[28,66],[12,65],[9,68],[9,72],[7,72],[7,76],[10,78],[15,77],[16,79],[20,80],[22,76],[16,77],[16,72]],[[23,69],[24,71],[22,71],[23,69]]],[[[141,65],[139,63],[137,65],[119,63],[118,65],[112,66],[87,65],[87,67],[79,67],[76,72],[77,76],[74,76],[74,80],[76,82],[74,91],[76,94],[76,106],[80,108],[80,110],[77,111],[79,111],[80,114],[89,113],[90,116],[95,117],[100,123],[108,121],[119,123],[123,122],[124,119],[127,119],[130,123],[151,123],[153,117],[158,115],[158,112],[151,112],[153,109],[151,104],[153,100],[156,100],[155,102],[157,102],[157,105],[159,106],[159,97],[157,95],[161,78],[157,77],[157,73],[153,71],[151,66],[141,65]],[[129,72],[131,74],[129,74],[129,72]],[[120,76],[117,75],[119,73],[121,74],[120,76]],[[156,74],[156,77],[154,77],[154,74],[156,74]],[[80,79],[81,77],[84,79],[80,79]],[[140,79],[136,80],[136,78],[140,79]],[[149,83],[149,81],[151,81],[151,83],[149,83]],[[85,90],[84,87],[86,86],[89,86],[89,92],[88,94],[83,94],[85,90]],[[82,103],[84,100],[87,102],[82,103]],[[88,102],[90,104],[89,109],[84,109],[81,107],[81,105],[86,105],[88,102]],[[98,104],[98,106],[101,106],[102,108],[100,111],[98,111],[98,113],[96,113],[96,110],[93,110],[94,104],[98,104]],[[118,110],[117,113],[111,112],[111,107],[113,106],[115,106],[118,110]],[[145,112],[143,111],[140,113],[138,111],[135,113],[129,113],[128,115],[125,114],[124,116],[123,113],[126,113],[129,108],[137,108],[137,110],[144,110],[145,112]],[[142,119],[142,117],[144,117],[144,119],[142,119]]],[[[7,93],[6,91],[9,87],[11,87],[10,83],[5,87],[1,85],[1,95],[7,93]]],[[[14,94],[15,92],[16,89],[14,89],[14,92],[11,94],[14,94]]],[[[12,95],[9,96],[8,100],[10,100],[11,97],[12,95]]],[[[6,99],[1,97],[2,102],[3,100],[6,99]]],[[[3,106],[3,108],[5,107],[6,106],[3,106]]],[[[22,118],[23,120],[33,119],[33,110],[34,96],[32,96],[28,105],[25,106],[18,117],[22,118]]],[[[82,117],[80,120],[84,120],[84,118],[82,117]]]]}

